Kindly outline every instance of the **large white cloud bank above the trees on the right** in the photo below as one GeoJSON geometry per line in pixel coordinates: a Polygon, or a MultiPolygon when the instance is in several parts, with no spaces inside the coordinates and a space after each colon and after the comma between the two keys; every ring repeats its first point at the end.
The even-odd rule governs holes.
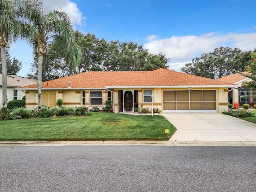
{"type": "MultiPolygon", "coordinates": [[[[170,58],[170,65],[180,65],[191,61],[195,56],[213,51],[214,48],[228,46],[238,47],[242,51],[256,48],[256,32],[254,33],[208,33],[201,36],[172,36],[168,39],[155,40],[144,45],[150,52],[162,52],[170,58]],[[177,64],[180,63],[180,64],[177,64]]],[[[183,64],[184,66],[184,64],[183,64]]],[[[172,67],[170,66],[170,69],[172,67]]]]}

